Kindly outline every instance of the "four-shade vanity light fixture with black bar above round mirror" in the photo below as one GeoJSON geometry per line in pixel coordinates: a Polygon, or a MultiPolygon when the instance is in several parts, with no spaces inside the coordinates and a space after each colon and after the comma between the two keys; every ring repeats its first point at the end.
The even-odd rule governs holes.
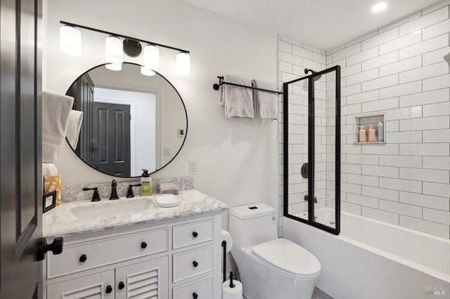
{"type": "Polygon", "coordinates": [[[147,46],[143,49],[143,65],[144,67],[141,68],[141,73],[146,73],[146,76],[153,76],[153,74],[150,72],[152,70],[158,69],[160,67],[160,48],[168,48],[174,51],[178,51],[179,53],[176,55],[176,73],[181,75],[188,75],[191,72],[191,58],[189,57],[189,51],[180,49],[180,48],[174,48],[172,46],[166,46],[162,44],[154,43],[153,41],[145,41],[143,39],[136,39],[134,37],[125,36],[122,34],[116,34],[113,32],[107,32],[100,29],[95,29],[91,27],[86,27],[82,25],[73,24],[70,22],[64,22],[60,21],[60,23],[63,25],[61,27],[61,51],[63,53],[69,54],[69,55],[81,55],[81,33],[79,32],[78,28],[91,30],[94,32],[98,32],[101,34],[106,34],[108,37],[105,40],[105,58],[106,61],[109,63],[105,65],[108,69],[113,70],[120,70],[122,69],[122,62],[123,62],[123,53],[125,52],[129,57],[134,58],[138,57],[141,54],[142,48],[141,44],[147,44],[147,46]],[[68,27],[70,29],[63,29],[65,27],[68,27]],[[70,31],[75,30],[77,33],[77,37],[63,37],[63,31],[70,31]],[[122,41],[123,39],[123,41],[122,41]],[[79,51],[65,51],[63,49],[63,42],[65,44],[68,43],[68,41],[78,41],[79,44],[79,51]],[[79,54],[73,54],[73,53],[79,53],[79,54]]]}

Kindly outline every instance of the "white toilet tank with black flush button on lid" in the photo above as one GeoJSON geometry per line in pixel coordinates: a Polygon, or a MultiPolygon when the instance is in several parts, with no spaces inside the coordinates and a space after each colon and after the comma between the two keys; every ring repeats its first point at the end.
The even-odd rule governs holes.
{"type": "Polygon", "coordinates": [[[236,248],[278,239],[274,208],[264,203],[230,208],[229,232],[236,248]]]}

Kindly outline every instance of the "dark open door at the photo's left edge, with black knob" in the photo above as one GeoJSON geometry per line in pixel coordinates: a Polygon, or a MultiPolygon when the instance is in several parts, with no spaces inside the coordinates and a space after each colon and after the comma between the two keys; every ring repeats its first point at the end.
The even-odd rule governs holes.
{"type": "Polygon", "coordinates": [[[0,0],[0,298],[42,298],[41,1],[0,0]]]}

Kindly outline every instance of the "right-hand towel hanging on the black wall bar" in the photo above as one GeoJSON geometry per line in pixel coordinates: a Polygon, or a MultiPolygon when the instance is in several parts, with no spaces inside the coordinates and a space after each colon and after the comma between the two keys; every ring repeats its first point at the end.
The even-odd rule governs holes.
{"type": "Polygon", "coordinates": [[[253,87],[266,89],[268,91],[253,90],[253,102],[255,102],[255,113],[260,119],[278,119],[278,86],[274,83],[261,80],[252,80],[253,87]]]}

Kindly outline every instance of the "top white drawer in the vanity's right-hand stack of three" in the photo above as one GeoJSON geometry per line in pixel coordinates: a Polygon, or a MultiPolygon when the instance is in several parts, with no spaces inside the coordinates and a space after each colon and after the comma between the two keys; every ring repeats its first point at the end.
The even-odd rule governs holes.
{"type": "Polygon", "coordinates": [[[211,241],[213,238],[214,220],[212,219],[174,226],[174,249],[211,241]]]}

